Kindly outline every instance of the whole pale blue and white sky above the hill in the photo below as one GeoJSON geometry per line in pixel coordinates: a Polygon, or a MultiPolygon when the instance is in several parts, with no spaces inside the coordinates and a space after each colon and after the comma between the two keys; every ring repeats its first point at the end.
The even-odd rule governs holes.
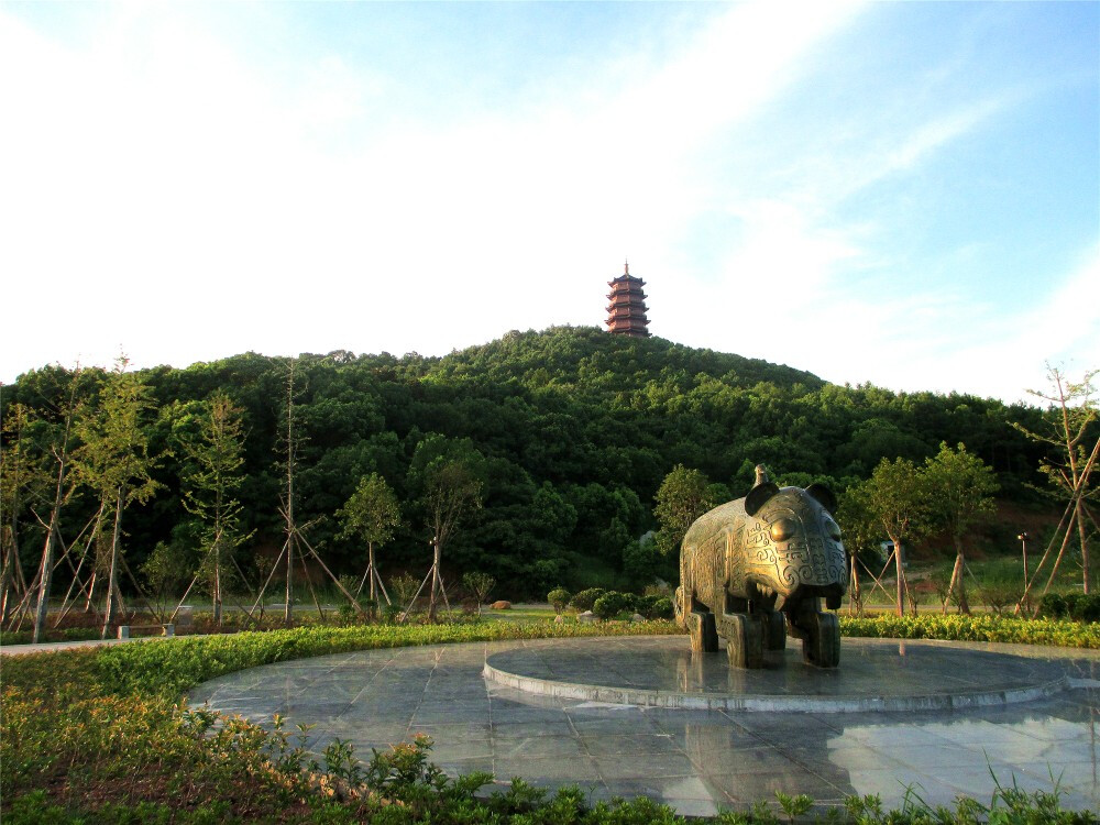
{"type": "Polygon", "coordinates": [[[0,382],[649,329],[1100,367],[1100,3],[0,1],[0,382]]]}

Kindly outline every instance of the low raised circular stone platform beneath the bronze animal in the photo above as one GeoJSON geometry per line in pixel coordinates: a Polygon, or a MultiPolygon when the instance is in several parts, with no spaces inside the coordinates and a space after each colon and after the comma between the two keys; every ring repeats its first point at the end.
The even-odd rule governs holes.
{"type": "Polygon", "coordinates": [[[798,642],[760,670],[725,651],[693,653],[686,637],[570,639],[490,656],[487,680],[559,698],[710,711],[856,713],[944,711],[1031,702],[1069,686],[1057,662],[949,644],[844,639],[840,667],[802,661],[798,642]]]}

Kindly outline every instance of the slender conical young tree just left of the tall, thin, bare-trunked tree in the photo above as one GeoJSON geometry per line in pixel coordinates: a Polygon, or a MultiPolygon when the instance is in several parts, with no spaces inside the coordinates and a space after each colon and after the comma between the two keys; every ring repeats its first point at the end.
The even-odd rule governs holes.
{"type": "Polygon", "coordinates": [[[244,483],[244,410],[216,392],[196,421],[179,421],[177,440],[188,459],[184,474],[184,507],[201,524],[201,556],[196,575],[207,585],[213,620],[222,624],[226,585],[233,579],[233,552],[251,538],[241,529],[242,506],[237,492],[244,483]],[[194,429],[187,427],[195,425],[194,429]]]}

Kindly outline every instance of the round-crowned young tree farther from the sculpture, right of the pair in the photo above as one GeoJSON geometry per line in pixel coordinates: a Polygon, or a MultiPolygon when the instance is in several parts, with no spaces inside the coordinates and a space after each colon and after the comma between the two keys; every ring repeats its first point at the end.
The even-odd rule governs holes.
{"type": "MultiPolygon", "coordinates": [[[[993,471],[977,455],[967,452],[965,444],[953,450],[945,442],[939,452],[924,462],[931,515],[937,526],[950,534],[955,544],[955,570],[952,572],[950,592],[955,594],[959,610],[970,612],[966,597],[963,573],[963,537],[978,520],[993,512],[993,494],[1000,490],[993,471]]],[[[944,603],[944,612],[947,604],[944,603]]]]}

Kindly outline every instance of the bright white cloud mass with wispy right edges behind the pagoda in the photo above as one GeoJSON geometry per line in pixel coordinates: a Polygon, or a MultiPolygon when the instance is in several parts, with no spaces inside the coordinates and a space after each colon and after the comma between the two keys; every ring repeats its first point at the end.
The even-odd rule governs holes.
{"type": "Polygon", "coordinates": [[[598,324],[626,255],[650,282],[657,334],[833,381],[1004,395],[1041,382],[1011,372],[1033,353],[1060,356],[1052,330],[1054,349],[1100,362],[1097,310],[1064,322],[1067,300],[1096,295],[1094,253],[1062,297],[1005,321],[963,290],[901,294],[887,229],[837,218],[1010,98],[899,105],[835,135],[822,124],[783,168],[734,162],[769,139],[754,118],[860,6],[730,7],[664,63],[644,43],[591,63],[575,103],[560,94],[575,78],[548,78],[519,111],[479,107],[446,127],[405,108],[410,78],[327,47],[273,72],[189,8],[118,7],[88,46],[0,11],[0,75],[25,78],[0,85],[21,124],[0,132],[6,299],[57,296],[45,324],[6,314],[0,378],[108,363],[120,343],[139,365],[183,365],[245,350],[441,353],[598,324]],[[705,220],[717,229],[700,249],[688,239],[705,220]]]}

